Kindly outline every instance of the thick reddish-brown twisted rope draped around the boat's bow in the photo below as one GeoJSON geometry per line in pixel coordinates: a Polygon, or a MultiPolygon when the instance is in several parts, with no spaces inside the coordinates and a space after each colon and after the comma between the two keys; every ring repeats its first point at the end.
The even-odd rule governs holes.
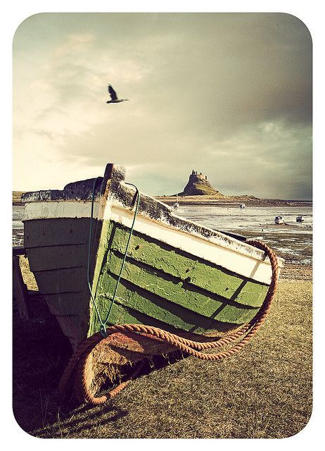
{"type": "Polygon", "coordinates": [[[94,395],[92,395],[92,393],[90,393],[85,376],[87,357],[94,349],[94,347],[96,347],[96,345],[98,345],[99,343],[105,344],[105,342],[109,342],[109,335],[116,332],[132,332],[146,336],[147,338],[150,338],[152,340],[165,342],[168,345],[174,347],[175,350],[186,352],[187,354],[202,360],[220,360],[240,351],[257,333],[257,330],[260,328],[260,326],[262,326],[262,323],[265,322],[265,318],[271,307],[272,300],[274,299],[274,294],[276,292],[279,278],[278,262],[273,250],[265,245],[265,243],[257,240],[250,240],[248,241],[248,244],[265,251],[265,254],[267,255],[267,257],[269,257],[269,261],[272,267],[272,280],[269,285],[269,289],[267,290],[265,300],[262,304],[262,307],[260,308],[260,311],[258,311],[255,317],[249,323],[244,324],[234,333],[231,333],[224,338],[209,342],[196,342],[193,340],[188,340],[186,338],[179,337],[179,335],[167,332],[166,330],[151,326],[145,326],[143,324],[117,324],[116,326],[110,326],[106,329],[106,333],[108,335],[107,338],[103,338],[103,335],[101,335],[101,333],[96,333],[87,338],[87,340],[84,340],[82,343],[80,343],[80,345],[77,347],[77,350],[72,355],[68,366],[66,366],[65,368],[60,381],[60,392],[66,393],[68,391],[70,385],[72,385],[72,373],[76,372],[77,374],[75,376],[75,383],[78,386],[79,393],[82,393],[84,400],[90,402],[91,404],[102,404],[108,399],[111,399],[117,393],[120,393],[120,390],[122,390],[122,388],[125,388],[125,386],[131,381],[131,379],[135,378],[139,374],[141,366],[138,366],[136,371],[132,373],[129,381],[121,383],[113,390],[110,390],[107,395],[96,398],[94,397],[94,395]],[[211,350],[219,347],[224,347],[233,342],[236,342],[236,344],[227,350],[222,350],[214,353],[202,352],[203,350],[211,350]]]}

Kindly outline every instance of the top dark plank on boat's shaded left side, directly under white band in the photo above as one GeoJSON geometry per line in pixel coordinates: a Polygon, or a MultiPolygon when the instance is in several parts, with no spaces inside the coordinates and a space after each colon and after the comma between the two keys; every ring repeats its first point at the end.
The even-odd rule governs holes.
{"type": "MultiPolygon", "coordinates": [[[[33,219],[24,223],[25,248],[87,244],[90,218],[33,219]]],[[[94,220],[94,233],[101,221],[94,220]]]]}

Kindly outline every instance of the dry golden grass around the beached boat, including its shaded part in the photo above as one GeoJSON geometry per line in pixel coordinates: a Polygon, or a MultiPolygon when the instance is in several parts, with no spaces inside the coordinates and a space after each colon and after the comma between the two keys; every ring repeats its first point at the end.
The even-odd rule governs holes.
{"type": "Polygon", "coordinates": [[[70,348],[40,300],[31,299],[32,320],[14,323],[14,412],[31,435],[284,438],[310,418],[311,280],[281,280],[265,325],[234,357],[177,360],[98,407],[60,401],[56,388],[70,348]]]}

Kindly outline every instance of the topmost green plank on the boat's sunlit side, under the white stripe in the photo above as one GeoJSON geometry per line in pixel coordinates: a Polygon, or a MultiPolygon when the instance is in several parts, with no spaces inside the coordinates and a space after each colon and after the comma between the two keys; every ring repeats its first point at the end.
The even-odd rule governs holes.
{"type": "MultiPolygon", "coordinates": [[[[123,254],[128,230],[117,226],[113,234],[110,247],[123,254]]],[[[230,274],[138,233],[132,235],[128,255],[156,270],[240,304],[260,307],[267,293],[267,285],[230,274]]]]}

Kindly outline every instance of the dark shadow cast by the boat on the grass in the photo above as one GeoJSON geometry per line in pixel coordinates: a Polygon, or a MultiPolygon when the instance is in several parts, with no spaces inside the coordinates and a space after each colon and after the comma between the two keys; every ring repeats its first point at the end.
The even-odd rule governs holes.
{"type": "MultiPolygon", "coordinates": [[[[13,414],[20,428],[37,437],[68,438],[70,431],[94,430],[96,421],[103,426],[127,416],[114,400],[100,406],[80,405],[72,395],[63,400],[58,384],[72,354],[70,342],[42,296],[30,297],[30,309],[28,320],[13,312],[13,414]]],[[[153,357],[139,377],[181,357],[179,352],[153,357]]],[[[110,388],[104,384],[101,392],[110,388]]]]}

